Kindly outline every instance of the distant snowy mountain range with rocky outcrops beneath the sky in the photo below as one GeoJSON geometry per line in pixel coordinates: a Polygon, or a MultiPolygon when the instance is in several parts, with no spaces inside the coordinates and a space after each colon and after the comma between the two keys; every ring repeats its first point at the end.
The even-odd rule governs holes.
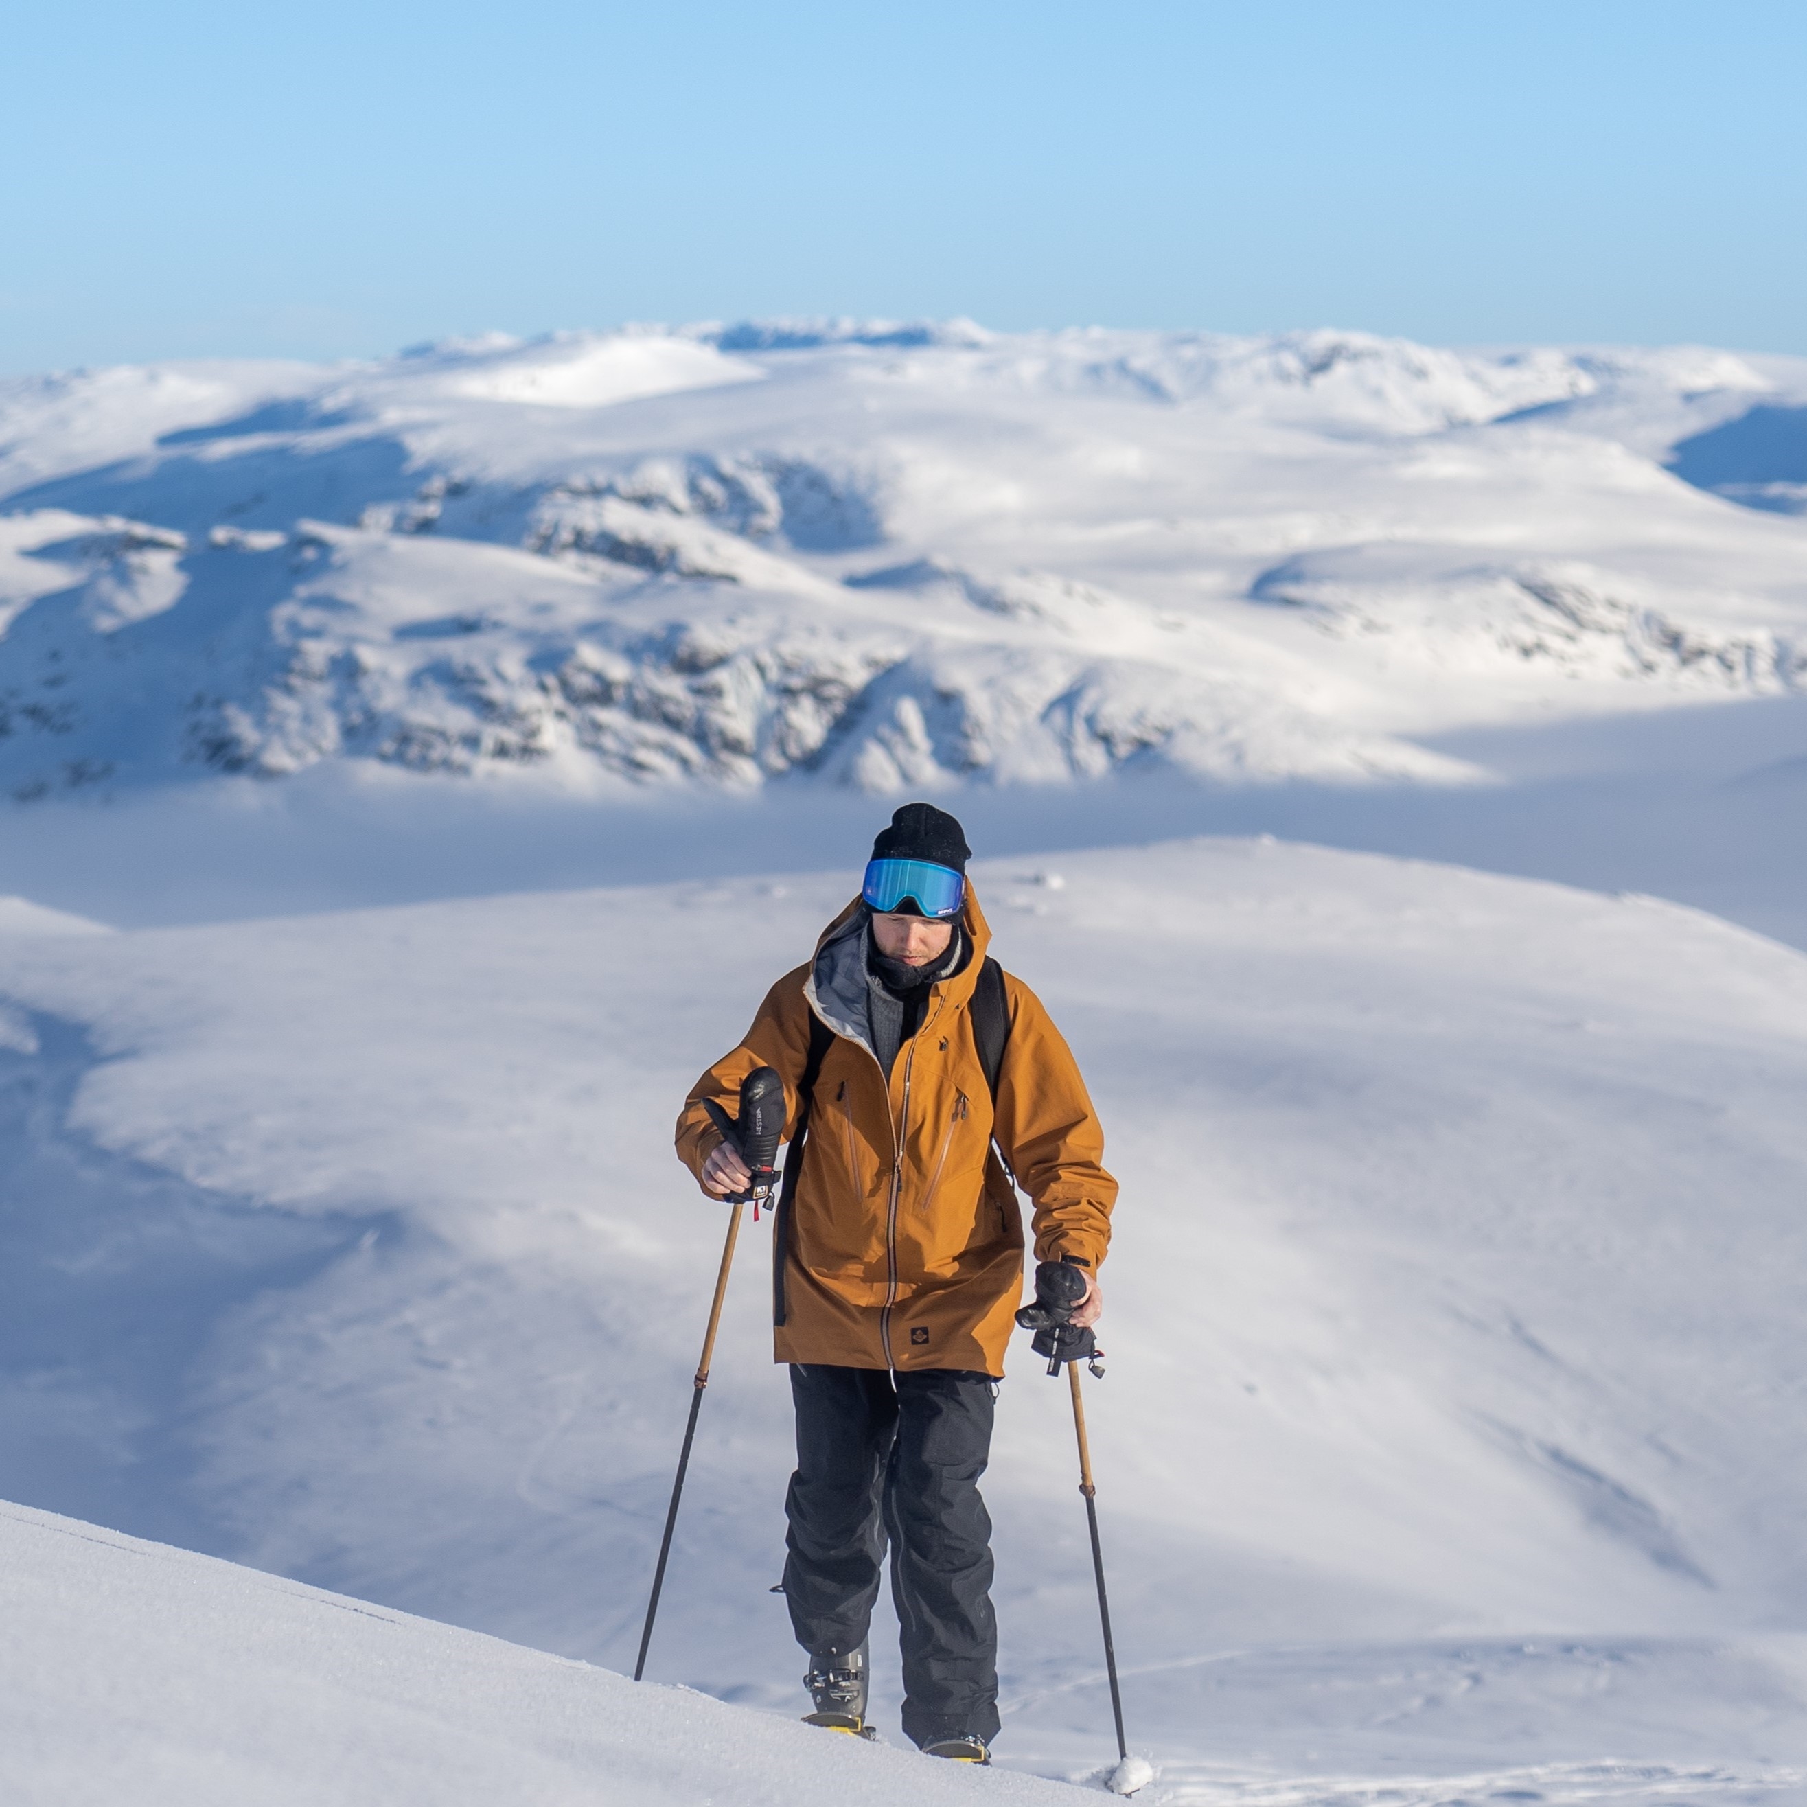
{"type": "Polygon", "coordinates": [[[14,381],[0,790],[1462,782],[1415,737],[1800,685],[1800,396],[1722,352],[849,322],[14,381]]]}

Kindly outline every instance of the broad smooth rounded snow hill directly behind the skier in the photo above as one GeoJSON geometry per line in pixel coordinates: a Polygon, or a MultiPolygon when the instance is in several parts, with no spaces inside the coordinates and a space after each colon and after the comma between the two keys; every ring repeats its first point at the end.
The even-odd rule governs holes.
{"type": "MultiPolygon", "coordinates": [[[[667,1126],[849,884],[0,923],[11,1491],[631,1664],[725,1227],[667,1126]]],[[[1091,1413],[1167,1798],[1798,1789],[1807,958],[1261,840],[978,884],[1126,1184],[1091,1413]]],[[[793,1713],[761,1234],[654,1673],[793,1713]]],[[[1072,1776],[1063,1413],[1017,1364],[988,1498],[1003,1751],[1072,1776]]]]}

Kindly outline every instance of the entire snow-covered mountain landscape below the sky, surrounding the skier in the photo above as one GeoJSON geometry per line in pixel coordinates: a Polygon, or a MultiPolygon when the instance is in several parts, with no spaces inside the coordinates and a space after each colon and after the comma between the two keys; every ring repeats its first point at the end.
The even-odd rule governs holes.
{"type": "Polygon", "coordinates": [[[716,1700],[584,1666],[725,1229],[676,1100],[909,786],[1124,1180],[1142,1798],[1807,1800],[1803,499],[1807,363],[1688,349],[781,322],[0,385],[9,1798],[1111,1755],[1034,1364],[987,1476],[1034,1776],[775,1722],[763,1227],[654,1643],[716,1700]]]}

